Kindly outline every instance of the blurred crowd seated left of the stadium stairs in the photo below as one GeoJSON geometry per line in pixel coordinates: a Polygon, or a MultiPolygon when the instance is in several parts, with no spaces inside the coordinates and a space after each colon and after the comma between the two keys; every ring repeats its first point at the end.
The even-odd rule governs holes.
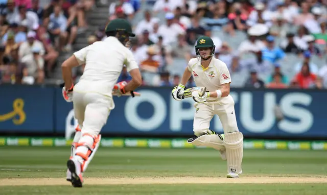
{"type": "Polygon", "coordinates": [[[0,81],[41,84],[85,31],[95,0],[1,0],[0,81]],[[40,3],[49,2],[45,7],[40,3]]]}

